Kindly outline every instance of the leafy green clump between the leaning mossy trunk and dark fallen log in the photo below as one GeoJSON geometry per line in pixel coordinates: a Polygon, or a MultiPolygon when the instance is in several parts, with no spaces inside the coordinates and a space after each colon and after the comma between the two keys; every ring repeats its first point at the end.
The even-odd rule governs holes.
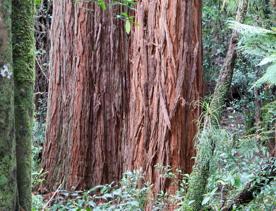
{"type": "MultiPolygon", "coordinates": [[[[202,205],[219,210],[249,182],[259,181],[260,172],[269,160],[267,148],[255,136],[221,139],[213,155],[211,175],[202,205]]],[[[273,203],[275,202],[274,200],[273,203]]]]}

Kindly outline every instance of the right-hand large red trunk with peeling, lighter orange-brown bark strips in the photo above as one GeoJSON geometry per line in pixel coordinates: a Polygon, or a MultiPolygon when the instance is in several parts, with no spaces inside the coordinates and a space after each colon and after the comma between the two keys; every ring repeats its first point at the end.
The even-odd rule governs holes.
{"type": "Polygon", "coordinates": [[[190,172],[202,93],[201,1],[137,3],[131,42],[128,169],[142,168],[161,189],[156,164],[190,172]]]}

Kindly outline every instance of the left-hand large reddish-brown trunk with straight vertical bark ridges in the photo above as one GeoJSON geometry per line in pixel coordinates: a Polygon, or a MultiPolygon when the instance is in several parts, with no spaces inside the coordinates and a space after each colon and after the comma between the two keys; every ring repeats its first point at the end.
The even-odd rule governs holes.
{"type": "Polygon", "coordinates": [[[43,167],[50,189],[117,180],[126,134],[128,42],[111,9],[53,1],[43,167]]]}

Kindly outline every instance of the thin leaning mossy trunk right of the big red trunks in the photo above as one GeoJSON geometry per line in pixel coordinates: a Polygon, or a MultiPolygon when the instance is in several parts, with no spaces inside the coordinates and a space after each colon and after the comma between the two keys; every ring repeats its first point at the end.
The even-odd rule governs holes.
{"type": "MultiPolygon", "coordinates": [[[[243,22],[247,13],[248,0],[240,0],[236,15],[236,21],[243,22]]],[[[219,78],[216,84],[215,91],[210,103],[212,113],[207,113],[205,116],[204,126],[197,137],[197,156],[193,167],[193,172],[189,181],[189,190],[187,201],[193,201],[192,210],[198,211],[202,207],[206,185],[209,177],[209,164],[212,159],[213,152],[216,147],[216,140],[213,136],[214,130],[217,129],[218,122],[222,114],[225,97],[232,83],[234,71],[234,63],[236,60],[236,45],[238,33],[233,31],[227,55],[220,71],[219,78]],[[213,128],[212,125],[215,127],[213,128]],[[206,156],[209,155],[209,156],[206,156]]]]}

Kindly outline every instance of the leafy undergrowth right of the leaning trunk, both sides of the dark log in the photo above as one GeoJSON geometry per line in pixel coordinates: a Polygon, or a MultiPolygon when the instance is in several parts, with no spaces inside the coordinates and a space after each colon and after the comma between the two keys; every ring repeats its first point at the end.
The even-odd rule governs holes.
{"type": "Polygon", "coordinates": [[[208,179],[207,194],[202,204],[211,210],[220,210],[229,200],[246,188],[265,179],[261,193],[247,206],[237,210],[276,209],[276,180],[266,175],[267,167],[276,168],[275,158],[271,158],[267,148],[256,137],[233,137],[222,139],[217,145],[211,162],[211,176],[208,179]],[[272,182],[269,181],[272,179],[272,182]],[[254,181],[254,182],[252,182],[254,181]]]}

